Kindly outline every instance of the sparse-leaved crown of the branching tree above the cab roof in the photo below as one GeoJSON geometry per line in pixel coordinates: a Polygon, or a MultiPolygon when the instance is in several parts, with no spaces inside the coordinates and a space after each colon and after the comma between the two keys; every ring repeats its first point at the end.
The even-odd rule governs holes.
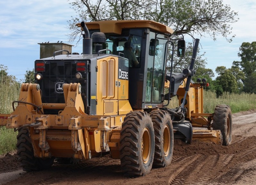
{"type": "Polygon", "coordinates": [[[224,5],[222,0],[74,0],[70,3],[77,16],[68,20],[71,31],[69,41],[73,42],[81,30],[77,22],[98,20],[149,19],[164,23],[174,29],[176,34],[193,33],[213,40],[222,35],[228,41],[231,24],[238,20],[237,12],[224,5]]]}

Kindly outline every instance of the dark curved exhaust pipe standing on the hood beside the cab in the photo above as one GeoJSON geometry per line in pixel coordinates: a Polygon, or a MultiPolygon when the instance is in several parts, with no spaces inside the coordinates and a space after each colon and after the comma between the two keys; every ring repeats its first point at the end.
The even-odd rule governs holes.
{"type": "Polygon", "coordinates": [[[83,35],[83,55],[89,54],[92,55],[92,39],[90,38],[90,33],[86,27],[84,21],[81,22],[81,27],[84,30],[83,35]]]}

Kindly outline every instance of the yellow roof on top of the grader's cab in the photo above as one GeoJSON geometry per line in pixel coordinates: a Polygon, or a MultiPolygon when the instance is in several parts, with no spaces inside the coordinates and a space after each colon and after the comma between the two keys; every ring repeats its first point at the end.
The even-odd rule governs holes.
{"type": "MultiPolygon", "coordinates": [[[[85,22],[85,25],[89,30],[99,29],[100,32],[114,34],[121,34],[123,28],[151,28],[166,34],[174,32],[172,28],[152,20],[103,20],[85,22]]],[[[81,27],[81,23],[77,23],[76,26],[81,27]]]]}

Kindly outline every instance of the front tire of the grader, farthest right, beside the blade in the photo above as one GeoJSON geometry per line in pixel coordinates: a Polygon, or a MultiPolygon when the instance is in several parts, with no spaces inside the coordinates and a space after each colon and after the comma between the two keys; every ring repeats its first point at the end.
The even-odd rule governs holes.
{"type": "Polygon", "coordinates": [[[223,142],[222,145],[228,146],[232,141],[232,114],[228,105],[217,105],[213,114],[213,130],[220,130],[223,142]]]}

